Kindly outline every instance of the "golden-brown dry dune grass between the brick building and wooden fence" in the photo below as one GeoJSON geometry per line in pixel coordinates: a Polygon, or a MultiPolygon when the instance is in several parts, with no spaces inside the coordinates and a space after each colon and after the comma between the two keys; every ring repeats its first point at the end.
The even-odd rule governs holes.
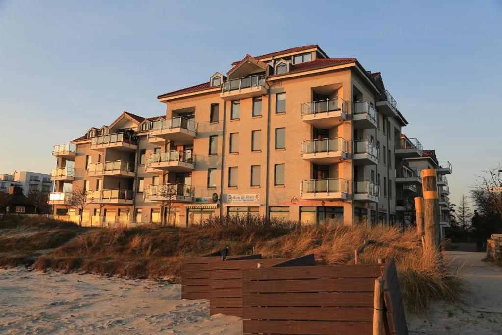
{"type": "MultiPolygon", "coordinates": [[[[62,229],[56,227],[55,231],[62,229]]],[[[394,257],[410,311],[423,313],[434,300],[460,301],[465,287],[461,269],[451,273],[449,264],[441,267],[437,255],[424,255],[413,230],[384,226],[299,226],[293,221],[212,217],[188,228],[94,229],[40,256],[33,267],[179,282],[182,256],[229,247],[232,254],[254,250],[264,257],[298,257],[313,253],[320,264],[350,264],[354,249],[366,240],[374,243],[359,255],[359,262],[394,257]]]]}

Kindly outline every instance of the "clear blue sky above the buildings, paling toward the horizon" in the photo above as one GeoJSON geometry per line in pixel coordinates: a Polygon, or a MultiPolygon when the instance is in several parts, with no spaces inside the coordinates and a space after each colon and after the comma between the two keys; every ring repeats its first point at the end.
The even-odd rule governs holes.
{"type": "Polygon", "coordinates": [[[449,160],[458,202],[502,161],[500,1],[0,0],[0,173],[49,172],[52,145],[123,110],[165,113],[156,96],[226,72],[246,53],[319,44],[356,57],[449,160]]]}

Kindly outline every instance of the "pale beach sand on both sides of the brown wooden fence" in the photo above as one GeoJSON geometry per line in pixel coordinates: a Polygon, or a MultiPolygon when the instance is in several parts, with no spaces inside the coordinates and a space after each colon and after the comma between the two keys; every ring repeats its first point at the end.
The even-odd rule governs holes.
{"type": "MultiPolygon", "coordinates": [[[[411,334],[502,334],[502,270],[484,253],[447,252],[466,263],[465,304],[436,303],[407,315],[411,334]]],[[[239,317],[209,317],[207,300],[181,299],[180,285],[92,274],[0,270],[0,333],[240,334],[239,317]]]]}

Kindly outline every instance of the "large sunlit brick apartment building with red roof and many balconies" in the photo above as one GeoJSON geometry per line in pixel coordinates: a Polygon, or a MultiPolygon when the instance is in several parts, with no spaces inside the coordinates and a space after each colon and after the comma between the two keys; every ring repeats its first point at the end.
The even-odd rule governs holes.
{"type": "Polygon", "coordinates": [[[398,199],[420,178],[401,168],[423,153],[380,72],[309,45],[246,55],[208,79],[159,95],[165,116],[124,112],[55,146],[55,212],[78,215],[65,192],[78,187],[85,221],[404,221],[398,199]]]}

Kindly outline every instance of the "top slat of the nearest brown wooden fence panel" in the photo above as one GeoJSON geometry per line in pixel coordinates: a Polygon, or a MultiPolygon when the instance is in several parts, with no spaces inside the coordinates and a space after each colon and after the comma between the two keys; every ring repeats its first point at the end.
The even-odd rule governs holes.
{"type": "Polygon", "coordinates": [[[381,276],[380,264],[364,265],[323,265],[290,267],[287,270],[281,268],[265,268],[260,272],[244,270],[242,279],[309,279],[309,278],[376,278],[381,276]]]}

